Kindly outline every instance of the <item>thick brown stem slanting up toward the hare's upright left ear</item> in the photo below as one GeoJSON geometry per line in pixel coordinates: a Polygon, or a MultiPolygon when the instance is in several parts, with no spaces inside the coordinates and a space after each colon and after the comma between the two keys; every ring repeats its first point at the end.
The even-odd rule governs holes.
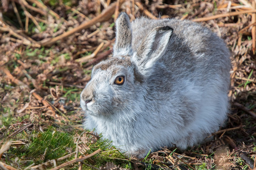
{"type": "MultiPolygon", "coordinates": [[[[120,0],[120,6],[123,4],[124,0],[120,0]]],[[[63,38],[66,38],[67,36],[74,34],[78,31],[81,31],[82,29],[86,29],[90,26],[95,25],[98,22],[103,22],[108,20],[109,18],[112,17],[112,15],[114,14],[114,9],[115,9],[115,4],[113,3],[112,5],[110,5],[108,8],[106,8],[100,15],[98,15],[97,17],[94,17],[92,20],[82,23],[80,26],[73,28],[70,31],[65,32],[64,34],[61,34],[57,37],[52,38],[51,40],[47,41],[47,42],[43,42],[42,45],[43,46],[47,46],[47,45],[51,45],[55,42],[57,42],[58,40],[61,40],[63,38]]]]}

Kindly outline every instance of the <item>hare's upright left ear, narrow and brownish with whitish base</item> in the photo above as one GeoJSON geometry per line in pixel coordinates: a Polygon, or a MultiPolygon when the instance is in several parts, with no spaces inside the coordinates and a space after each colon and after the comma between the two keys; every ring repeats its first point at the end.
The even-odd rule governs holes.
{"type": "Polygon", "coordinates": [[[114,44],[114,56],[132,55],[132,29],[128,15],[121,12],[116,22],[116,37],[114,44]]]}

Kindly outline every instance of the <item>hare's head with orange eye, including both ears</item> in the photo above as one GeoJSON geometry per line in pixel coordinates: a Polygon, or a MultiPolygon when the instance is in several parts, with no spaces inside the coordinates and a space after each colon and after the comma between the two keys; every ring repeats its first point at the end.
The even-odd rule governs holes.
{"type": "Polygon", "coordinates": [[[154,28],[137,49],[132,49],[129,17],[121,13],[116,20],[113,57],[92,70],[90,82],[81,93],[81,107],[93,116],[111,117],[115,112],[133,110],[147,93],[147,77],[154,63],[165,54],[172,28],[154,28]]]}

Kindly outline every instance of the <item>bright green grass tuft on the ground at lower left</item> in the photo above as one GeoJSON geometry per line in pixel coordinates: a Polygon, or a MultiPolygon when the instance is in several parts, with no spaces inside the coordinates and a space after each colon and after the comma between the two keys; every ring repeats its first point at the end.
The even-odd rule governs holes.
{"type": "Polygon", "coordinates": [[[27,158],[34,158],[36,164],[65,156],[68,148],[74,150],[76,147],[73,134],[58,131],[54,127],[49,127],[46,131],[39,133],[34,130],[29,136],[22,133],[20,138],[29,140],[30,144],[12,148],[9,153],[15,154],[20,159],[25,155],[27,158]]]}

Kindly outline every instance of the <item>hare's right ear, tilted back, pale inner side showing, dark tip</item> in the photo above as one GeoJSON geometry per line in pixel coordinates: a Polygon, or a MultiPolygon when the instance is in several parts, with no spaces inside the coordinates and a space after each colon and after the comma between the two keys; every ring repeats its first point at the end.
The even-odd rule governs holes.
{"type": "Polygon", "coordinates": [[[137,50],[139,69],[148,70],[164,55],[173,29],[170,26],[155,27],[143,40],[137,50]]]}

